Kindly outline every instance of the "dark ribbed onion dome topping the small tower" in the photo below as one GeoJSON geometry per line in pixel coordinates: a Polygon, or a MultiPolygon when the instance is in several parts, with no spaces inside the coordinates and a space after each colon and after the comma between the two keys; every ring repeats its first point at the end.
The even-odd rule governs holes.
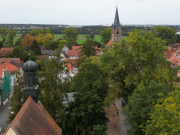
{"type": "Polygon", "coordinates": [[[36,72],[38,66],[34,61],[28,60],[24,63],[22,69],[24,72],[36,72]]]}

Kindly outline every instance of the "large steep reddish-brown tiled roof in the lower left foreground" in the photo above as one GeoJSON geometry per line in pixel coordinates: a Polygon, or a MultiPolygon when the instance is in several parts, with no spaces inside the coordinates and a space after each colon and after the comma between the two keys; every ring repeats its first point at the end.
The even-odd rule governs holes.
{"type": "Polygon", "coordinates": [[[21,107],[5,134],[10,128],[19,135],[62,135],[62,129],[41,102],[37,105],[31,97],[21,107]]]}

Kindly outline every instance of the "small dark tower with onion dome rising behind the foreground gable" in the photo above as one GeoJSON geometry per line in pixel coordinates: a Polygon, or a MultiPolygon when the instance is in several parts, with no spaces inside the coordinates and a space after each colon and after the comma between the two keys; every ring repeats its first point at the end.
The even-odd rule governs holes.
{"type": "Polygon", "coordinates": [[[28,60],[24,63],[24,102],[31,96],[38,103],[38,85],[36,83],[36,70],[38,66],[34,61],[28,60]]]}

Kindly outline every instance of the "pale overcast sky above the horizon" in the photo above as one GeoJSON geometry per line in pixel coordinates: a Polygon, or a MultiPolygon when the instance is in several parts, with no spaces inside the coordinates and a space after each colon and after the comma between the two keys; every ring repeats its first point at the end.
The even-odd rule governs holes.
{"type": "Polygon", "coordinates": [[[0,23],[180,25],[180,0],[0,0],[0,23]]]}

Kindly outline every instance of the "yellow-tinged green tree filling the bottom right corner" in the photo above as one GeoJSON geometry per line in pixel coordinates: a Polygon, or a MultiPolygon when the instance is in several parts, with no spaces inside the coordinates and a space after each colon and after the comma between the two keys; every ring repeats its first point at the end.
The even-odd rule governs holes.
{"type": "Polygon", "coordinates": [[[150,113],[146,135],[178,135],[180,131],[180,91],[175,90],[161,98],[150,113]]]}

